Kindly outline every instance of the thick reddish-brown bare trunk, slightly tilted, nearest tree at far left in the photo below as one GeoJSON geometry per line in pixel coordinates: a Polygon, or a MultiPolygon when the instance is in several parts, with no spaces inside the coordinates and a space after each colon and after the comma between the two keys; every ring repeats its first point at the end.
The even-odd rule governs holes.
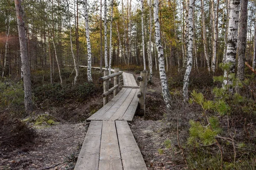
{"type": "Polygon", "coordinates": [[[23,81],[24,81],[24,101],[26,113],[32,112],[32,92],[31,92],[31,80],[30,80],[30,68],[27,55],[26,33],[25,24],[23,21],[23,8],[20,0],[15,0],[15,9],[17,16],[19,40],[20,40],[20,54],[21,64],[23,69],[23,81]]]}

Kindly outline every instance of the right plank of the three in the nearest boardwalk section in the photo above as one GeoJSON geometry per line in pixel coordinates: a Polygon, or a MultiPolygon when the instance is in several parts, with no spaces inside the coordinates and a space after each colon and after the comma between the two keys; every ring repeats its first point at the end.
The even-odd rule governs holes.
{"type": "Polygon", "coordinates": [[[123,170],[147,170],[143,156],[127,121],[116,120],[116,132],[122,157],[123,170]]]}

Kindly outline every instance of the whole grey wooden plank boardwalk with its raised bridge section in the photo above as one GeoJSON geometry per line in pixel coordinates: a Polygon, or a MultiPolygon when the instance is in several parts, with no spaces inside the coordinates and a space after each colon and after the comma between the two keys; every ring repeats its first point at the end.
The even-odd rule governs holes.
{"type": "Polygon", "coordinates": [[[75,170],[147,170],[127,122],[136,112],[140,89],[132,74],[123,72],[122,77],[122,90],[87,119],[90,126],[75,170]]]}

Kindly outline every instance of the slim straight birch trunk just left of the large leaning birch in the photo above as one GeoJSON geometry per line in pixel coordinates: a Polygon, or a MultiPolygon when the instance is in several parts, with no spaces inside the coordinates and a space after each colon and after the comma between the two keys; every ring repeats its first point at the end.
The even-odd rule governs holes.
{"type": "Polygon", "coordinates": [[[151,51],[151,34],[152,34],[152,14],[151,14],[152,2],[149,0],[149,37],[148,37],[148,67],[149,67],[149,77],[148,82],[152,80],[152,51],[151,51]]]}

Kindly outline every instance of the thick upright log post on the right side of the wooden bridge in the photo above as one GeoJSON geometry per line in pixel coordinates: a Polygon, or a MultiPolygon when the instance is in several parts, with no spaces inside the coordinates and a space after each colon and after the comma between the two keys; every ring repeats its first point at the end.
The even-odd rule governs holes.
{"type": "Polygon", "coordinates": [[[147,89],[147,71],[141,71],[140,77],[137,78],[140,81],[140,91],[137,95],[139,98],[139,115],[145,115],[145,99],[147,89]]]}

